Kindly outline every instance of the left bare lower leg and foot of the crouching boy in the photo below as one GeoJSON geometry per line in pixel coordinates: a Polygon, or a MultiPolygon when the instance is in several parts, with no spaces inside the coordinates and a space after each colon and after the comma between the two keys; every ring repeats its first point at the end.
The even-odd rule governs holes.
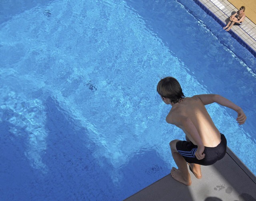
{"type": "Polygon", "coordinates": [[[187,162],[178,153],[178,151],[176,149],[177,141],[179,141],[179,140],[176,139],[176,140],[173,140],[170,142],[172,157],[173,157],[176,165],[178,166],[178,169],[176,169],[175,167],[172,167],[171,175],[175,180],[177,180],[181,183],[184,183],[185,185],[191,185],[192,182],[191,182],[190,174],[188,172],[187,162]]]}

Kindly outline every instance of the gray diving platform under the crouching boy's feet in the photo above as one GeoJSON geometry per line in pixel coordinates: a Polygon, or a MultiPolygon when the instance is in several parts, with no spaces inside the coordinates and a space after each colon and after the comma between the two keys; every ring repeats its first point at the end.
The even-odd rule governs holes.
{"type": "Polygon", "coordinates": [[[255,175],[229,148],[222,160],[201,169],[202,179],[191,173],[191,186],[168,174],[125,201],[256,201],[255,175]]]}

